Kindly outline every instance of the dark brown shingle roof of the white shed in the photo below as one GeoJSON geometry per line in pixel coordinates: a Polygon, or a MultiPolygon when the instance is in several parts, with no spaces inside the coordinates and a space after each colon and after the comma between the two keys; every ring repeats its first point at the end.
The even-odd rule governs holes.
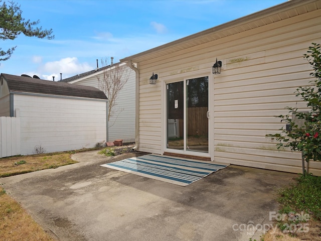
{"type": "Polygon", "coordinates": [[[40,94],[52,94],[74,96],[95,99],[107,99],[105,93],[95,87],[54,82],[49,80],[22,77],[11,74],[1,74],[1,78],[7,81],[10,92],[28,92],[40,94]]]}

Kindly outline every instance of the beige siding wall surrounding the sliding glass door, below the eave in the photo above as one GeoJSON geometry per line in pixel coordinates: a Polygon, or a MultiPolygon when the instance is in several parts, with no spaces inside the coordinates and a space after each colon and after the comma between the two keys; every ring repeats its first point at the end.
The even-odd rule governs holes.
{"type": "MultiPolygon", "coordinates": [[[[279,171],[301,172],[299,153],[277,151],[266,134],[284,124],[275,115],[285,106],[305,110],[295,97],[298,86],[308,84],[311,66],[303,59],[312,42],[321,43],[321,11],[293,17],[254,30],[192,47],[153,61],[139,63],[140,151],[162,153],[162,78],[183,80],[182,73],[208,69],[223,61],[222,73],[210,75],[214,89],[211,114],[214,160],[279,171]],[[149,85],[152,72],[156,85],[149,85]],[[215,77],[215,78],[214,78],[215,77]],[[213,118],[214,116],[214,118],[213,118]]],[[[163,149],[162,149],[163,148],[163,149]]],[[[310,172],[321,175],[321,163],[310,162],[310,172]]]]}

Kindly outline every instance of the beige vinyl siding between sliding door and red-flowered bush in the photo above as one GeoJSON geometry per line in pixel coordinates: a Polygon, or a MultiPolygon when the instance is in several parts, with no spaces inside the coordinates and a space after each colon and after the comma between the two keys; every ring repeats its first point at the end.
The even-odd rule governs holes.
{"type": "MultiPolygon", "coordinates": [[[[315,12],[319,13],[314,13],[314,19],[264,32],[262,51],[259,41],[252,38],[248,54],[236,52],[235,57],[224,59],[224,74],[214,80],[216,161],[301,172],[300,154],[278,151],[276,143],[265,135],[285,127],[280,118],[274,117],[287,114],[285,106],[306,110],[294,91],[310,80],[312,69],[303,54],[311,42],[320,41],[316,26],[321,23],[316,17],[320,11],[315,12]],[[253,48],[258,52],[252,52],[253,48]]],[[[310,172],[321,174],[320,169],[320,163],[310,164],[310,172]]]]}

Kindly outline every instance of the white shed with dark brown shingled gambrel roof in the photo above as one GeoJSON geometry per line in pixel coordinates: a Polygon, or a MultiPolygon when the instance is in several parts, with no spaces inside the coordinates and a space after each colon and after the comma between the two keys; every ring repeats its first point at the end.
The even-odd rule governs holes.
{"type": "MultiPolygon", "coordinates": [[[[0,115],[16,116],[20,124],[18,154],[35,154],[40,147],[49,153],[93,148],[106,141],[108,99],[101,90],[10,74],[1,74],[0,81],[0,115]]],[[[2,136],[0,148],[11,139],[2,136]]]]}

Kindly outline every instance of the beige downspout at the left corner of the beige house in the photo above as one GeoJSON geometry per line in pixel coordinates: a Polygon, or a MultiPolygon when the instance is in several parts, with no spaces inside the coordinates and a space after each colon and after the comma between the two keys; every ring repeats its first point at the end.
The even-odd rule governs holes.
{"type": "MultiPolygon", "coordinates": [[[[128,60],[127,66],[135,71],[135,146],[132,150],[137,150],[139,147],[139,69],[133,66],[131,60],[128,60]]],[[[138,67],[138,65],[137,65],[138,67]]]]}

